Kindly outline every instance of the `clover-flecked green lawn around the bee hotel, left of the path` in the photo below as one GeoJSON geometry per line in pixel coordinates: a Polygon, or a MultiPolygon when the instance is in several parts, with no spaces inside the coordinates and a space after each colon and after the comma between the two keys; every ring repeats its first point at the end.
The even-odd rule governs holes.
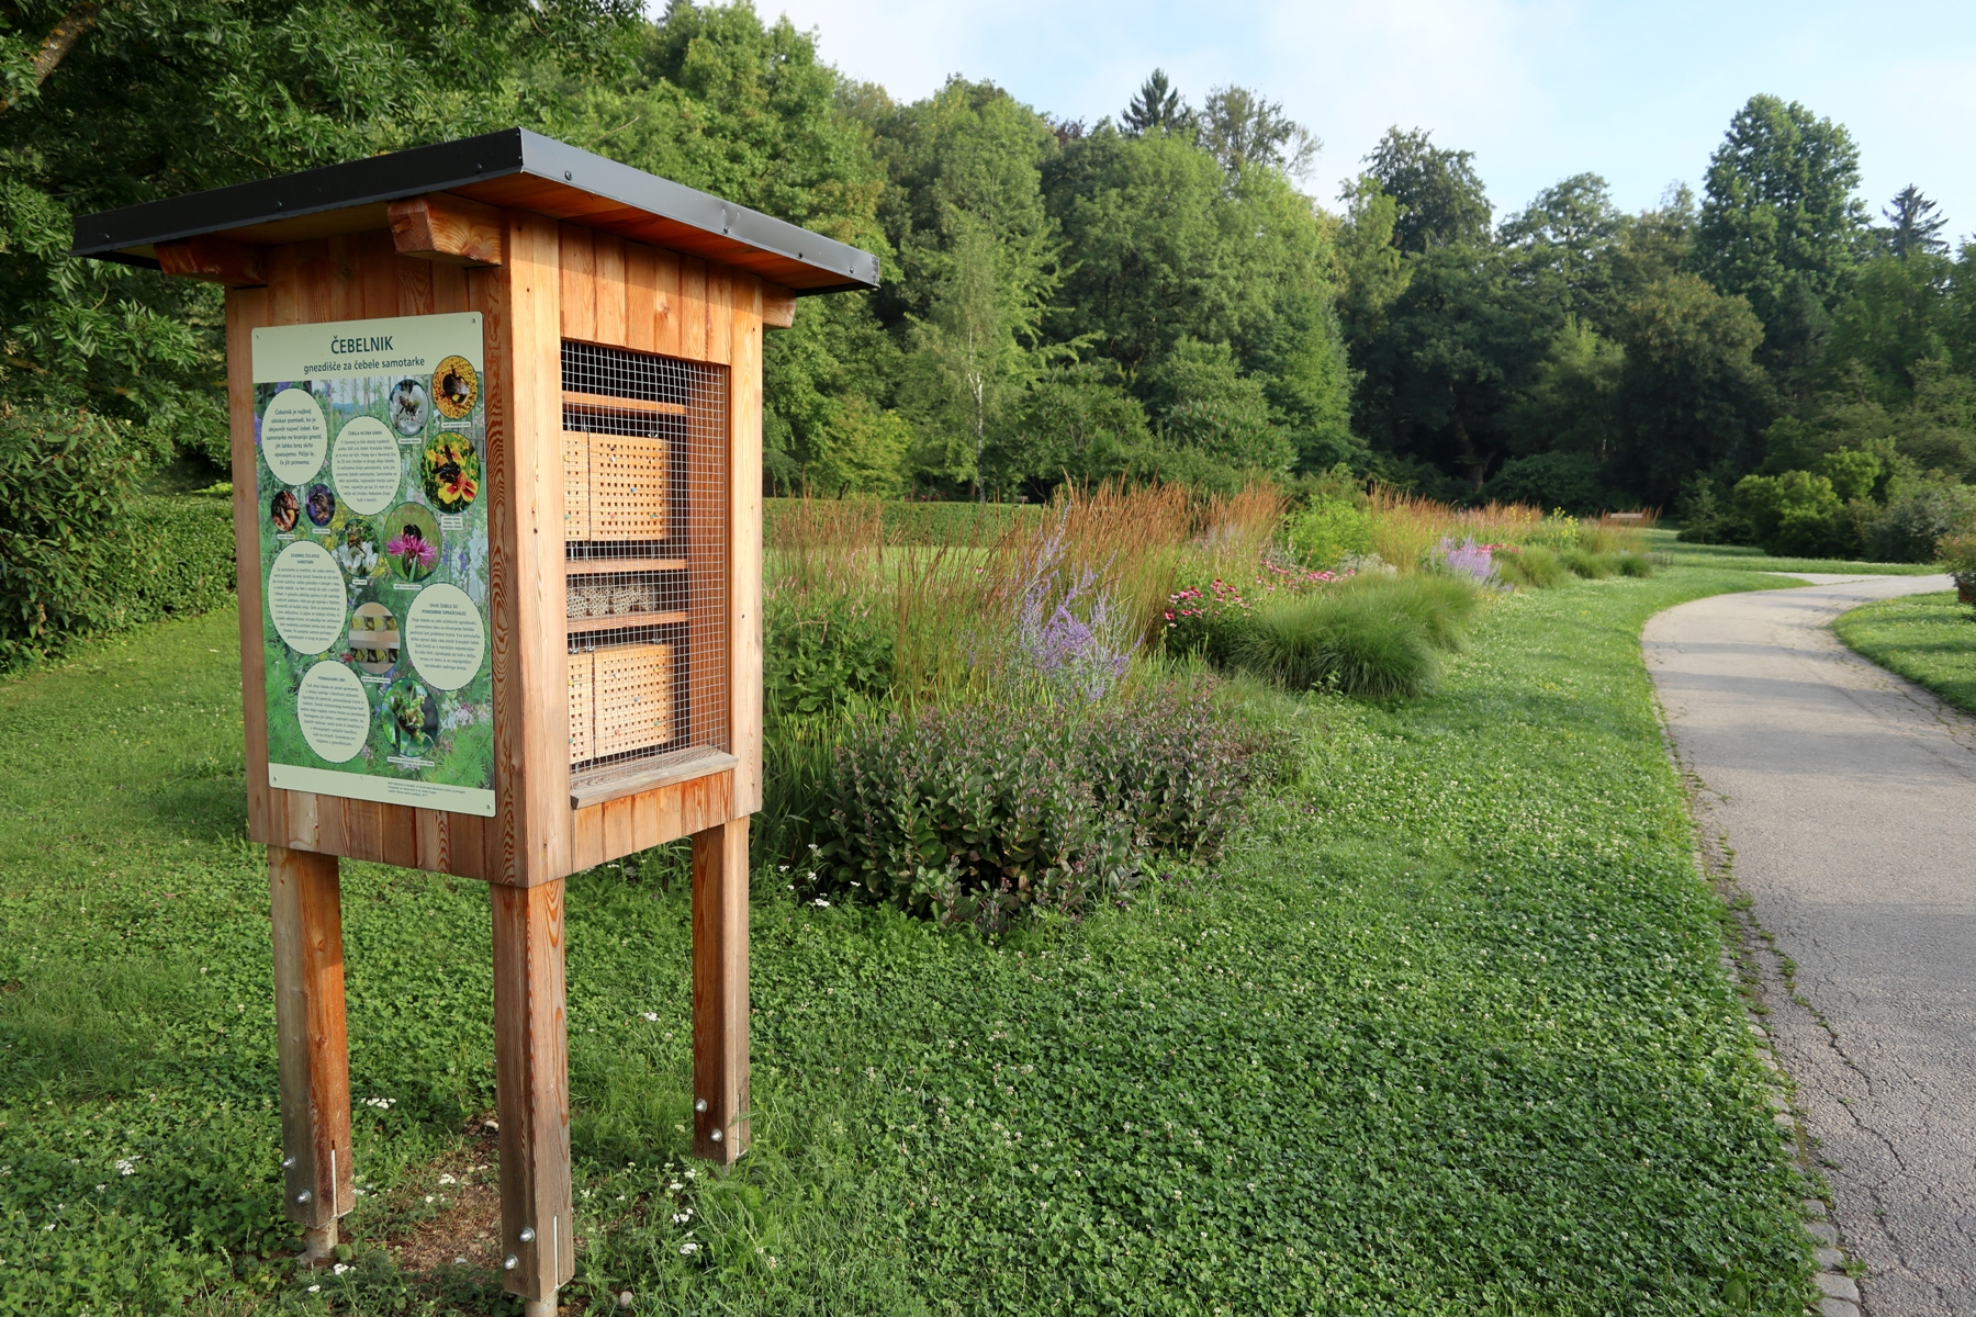
{"type": "MultiPolygon", "coordinates": [[[[1761,584],[1500,598],[1437,695],[1300,705],[1302,780],[1219,871],[1081,924],[988,944],[763,875],[727,1179],[684,1173],[678,857],[579,875],[575,1311],[1686,1317],[1737,1270],[1796,1317],[1804,1183],[1638,652],[1761,584]]],[[[352,1088],[393,1106],[358,1106],[356,1270],[265,1256],[292,1232],[233,636],[0,685],[0,1313],[486,1311],[492,1272],[370,1246],[447,1208],[492,1106],[474,883],[344,867],[352,1088]]]]}

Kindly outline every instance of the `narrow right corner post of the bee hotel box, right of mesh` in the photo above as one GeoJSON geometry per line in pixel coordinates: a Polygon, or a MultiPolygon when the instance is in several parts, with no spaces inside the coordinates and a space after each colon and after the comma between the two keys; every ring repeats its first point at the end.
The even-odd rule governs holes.
{"type": "Polygon", "coordinates": [[[729,478],[729,750],[735,766],[735,813],[761,810],[761,355],[763,284],[753,274],[733,278],[727,371],[729,478]]]}

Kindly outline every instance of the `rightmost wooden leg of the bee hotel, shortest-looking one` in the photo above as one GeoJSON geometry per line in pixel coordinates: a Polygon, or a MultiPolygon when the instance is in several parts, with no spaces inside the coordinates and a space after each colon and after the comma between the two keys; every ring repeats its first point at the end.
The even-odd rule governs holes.
{"type": "Polygon", "coordinates": [[[747,1151],[747,819],[694,833],[694,1155],[747,1151]]]}

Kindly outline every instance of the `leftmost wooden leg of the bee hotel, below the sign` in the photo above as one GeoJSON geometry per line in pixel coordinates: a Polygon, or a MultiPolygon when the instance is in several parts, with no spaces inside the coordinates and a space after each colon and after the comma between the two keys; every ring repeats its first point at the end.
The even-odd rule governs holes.
{"type": "Polygon", "coordinates": [[[356,1206],[350,1165],[350,1041],[344,1031],[344,912],[336,857],[267,849],[275,924],[275,1048],[281,1064],[283,1206],[306,1262],[336,1248],[356,1206]]]}

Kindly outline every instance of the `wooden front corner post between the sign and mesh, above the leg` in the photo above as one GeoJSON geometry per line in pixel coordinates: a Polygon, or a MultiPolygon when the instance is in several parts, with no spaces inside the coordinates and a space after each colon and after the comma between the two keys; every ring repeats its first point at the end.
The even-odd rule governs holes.
{"type": "MultiPolygon", "coordinates": [[[[506,265],[476,271],[488,334],[490,612],[494,622],[494,794],[500,865],[528,887],[569,873],[569,711],[563,669],[563,290],[557,225],[510,211],[506,265]]],[[[567,225],[565,225],[567,231],[567,225]]],[[[575,259],[593,251],[577,243],[575,259]]],[[[595,324],[595,302],[591,302],[595,324]]]]}

